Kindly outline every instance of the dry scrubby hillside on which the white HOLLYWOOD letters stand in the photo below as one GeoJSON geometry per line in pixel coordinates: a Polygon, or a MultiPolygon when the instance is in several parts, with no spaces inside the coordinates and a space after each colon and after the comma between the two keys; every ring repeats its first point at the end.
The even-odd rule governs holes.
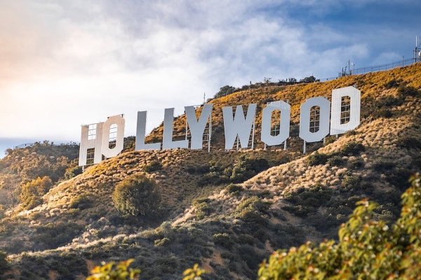
{"type": "MultiPolygon", "coordinates": [[[[380,203],[377,218],[394,221],[400,195],[421,163],[420,89],[418,63],[325,83],[235,92],[210,101],[211,153],[127,147],[68,180],[65,169],[25,179],[22,169],[11,167],[38,152],[11,151],[0,161],[9,189],[34,176],[60,175],[39,204],[31,209],[11,204],[1,220],[0,247],[13,267],[9,276],[80,279],[94,263],[135,258],[142,279],[179,279],[194,262],[211,272],[208,279],[254,279],[258,264],[276,248],[337,238],[339,225],[363,197],[380,203]],[[338,139],[328,137],[324,146],[309,145],[302,155],[300,104],[309,97],[330,99],[331,90],[348,85],[361,90],[361,125],[338,139]],[[259,126],[254,151],[222,150],[222,106],[258,103],[260,123],[262,106],[281,99],[291,104],[287,151],[263,151],[259,126]],[[114,208],[116,184],[133,174],[156,181],[159,216],[123,217],[114,208]]],[[[184,129],[180,116],[178,137],[184,129]]],[[[160,139],[161,132],[157,127],[148,139],[160,139]]]]}

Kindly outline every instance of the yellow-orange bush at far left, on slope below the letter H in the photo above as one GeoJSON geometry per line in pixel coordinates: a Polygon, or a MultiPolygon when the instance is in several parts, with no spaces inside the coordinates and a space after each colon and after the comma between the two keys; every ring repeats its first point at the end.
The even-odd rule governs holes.
{"type": "Polygon", "coordinates": [[[24,209],[32,209],[42,203],[42,196],[53,186],[50,177],[38,177],[22,186],[20,202],[24,209]]]}

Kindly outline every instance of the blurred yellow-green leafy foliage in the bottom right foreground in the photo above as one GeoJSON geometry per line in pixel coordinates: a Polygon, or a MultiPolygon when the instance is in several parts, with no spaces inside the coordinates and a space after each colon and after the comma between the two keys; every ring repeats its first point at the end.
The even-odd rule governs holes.
{"type": "Polygon", "coordinates": [[[417,279],[421,275],[420,175],[402,195],[401,217],[389,228],[372,219],[377,206],[362,200],[339,230],[339,241],[308,242],[274,252],[260,265],[260,280],[417,279]]]}

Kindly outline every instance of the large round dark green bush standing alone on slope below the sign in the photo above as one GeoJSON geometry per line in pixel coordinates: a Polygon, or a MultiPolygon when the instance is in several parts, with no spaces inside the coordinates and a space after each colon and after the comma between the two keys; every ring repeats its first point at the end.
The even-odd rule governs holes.
{"type": "Polygon", "coordinates": [[[154,181],[133,175],[116,185],[112,201],[124,216],[154,216],[159,212],[161,197],[154,181]]]}

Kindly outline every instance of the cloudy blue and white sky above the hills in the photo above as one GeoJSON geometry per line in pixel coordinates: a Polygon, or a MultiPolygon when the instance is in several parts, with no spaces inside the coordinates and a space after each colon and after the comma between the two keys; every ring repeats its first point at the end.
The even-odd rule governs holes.
{"type": "MultiPolygon", "coordinates": [[[[124,114],[135,134],[163,109],[223,85],[338,75],[412,57],[417,1],[0,2],[0,157],[19,144],[79,142],[124,114]]],[[[233,104],[235,105],[235,104],[233,104]]]]}

